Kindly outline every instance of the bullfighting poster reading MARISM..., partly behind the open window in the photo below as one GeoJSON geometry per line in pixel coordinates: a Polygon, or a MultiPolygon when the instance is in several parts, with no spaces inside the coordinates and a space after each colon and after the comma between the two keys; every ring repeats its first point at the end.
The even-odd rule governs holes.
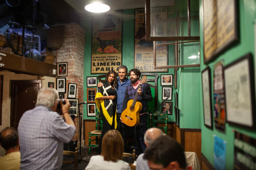
{"type": "MultiPolygon", "coordinates": [[[[163,8],[163,7],[161,7],[163,8]]],[[[154,16],[167,19],[165,10],[154,12],[154,16]]],[[[157,11],[157,10],[156,10],[157,11]]],[[[167,72],[168,69],[154,69],[153,42],[146,41],[145,8],[135,9],[134,68],[141,72],[167,72]]],[[[156,66],[167,66],[167,46],[156,48],[156,66]]]]}

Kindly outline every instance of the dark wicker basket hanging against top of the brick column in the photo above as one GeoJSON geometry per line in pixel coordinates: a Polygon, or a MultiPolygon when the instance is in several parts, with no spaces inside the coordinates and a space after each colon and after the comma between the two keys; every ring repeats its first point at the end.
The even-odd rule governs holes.
{"type": "Polygon", "coordinates": [[[61,27],[50,27],[46,29],[46,44],[52,50],[62,47],[64,34],[64,25],[61,27]]]}

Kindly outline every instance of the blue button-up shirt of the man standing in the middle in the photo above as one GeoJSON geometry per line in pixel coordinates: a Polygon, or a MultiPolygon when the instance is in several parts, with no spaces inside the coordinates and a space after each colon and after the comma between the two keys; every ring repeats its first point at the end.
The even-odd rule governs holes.
{"type": "Polygon", "coordinates": [[[116,93],[117,93],[117,112],[122,113],[123,108],[123,101],[125,96],[125,89],[127,86],[129,86],[131,83],[130,79],[127,79],[125,77],[124,81],[122,81],[122,84],[119,80],[119,77],[117,78],[118,85],[116,87],[116,93]]]}

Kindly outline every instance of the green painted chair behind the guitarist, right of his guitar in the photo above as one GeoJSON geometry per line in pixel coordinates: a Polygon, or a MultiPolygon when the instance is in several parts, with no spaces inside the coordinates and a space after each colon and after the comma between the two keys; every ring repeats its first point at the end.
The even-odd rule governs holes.
{"type": "MultiPolygon", "coordinates": [[[[150,113],[150,110],[151,109],[149,108],[149,113],[150,113]]],[[[156,110],[155,112],[152,113],[152,116],[150,115],[149,120],[150,120],[149,127],[156,127],[159,129],[163,129],[164,133],[167,134],[168,110],[166,110],[166,113],[162,113],[161,111],[156,110]],[[162,116],[162,119],[159,116],[162,116]],[[155,126],[156,123],[157,123],[157,126],[155,126]],[[162,127],[162,126],[159,126],[158,123],[165,123],[165,125],[162,127]]]]}

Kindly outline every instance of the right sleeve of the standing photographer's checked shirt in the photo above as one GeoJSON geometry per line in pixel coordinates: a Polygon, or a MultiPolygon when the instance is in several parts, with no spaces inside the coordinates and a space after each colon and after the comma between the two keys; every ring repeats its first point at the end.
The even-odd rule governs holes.
{"type": "Polygon", "coordinates": [[[76,134],[76,127],[69,125],[58,115],[52,125],[52,134],[63,141],[64,143],[70,142],[73,136],[76,134]]]}

